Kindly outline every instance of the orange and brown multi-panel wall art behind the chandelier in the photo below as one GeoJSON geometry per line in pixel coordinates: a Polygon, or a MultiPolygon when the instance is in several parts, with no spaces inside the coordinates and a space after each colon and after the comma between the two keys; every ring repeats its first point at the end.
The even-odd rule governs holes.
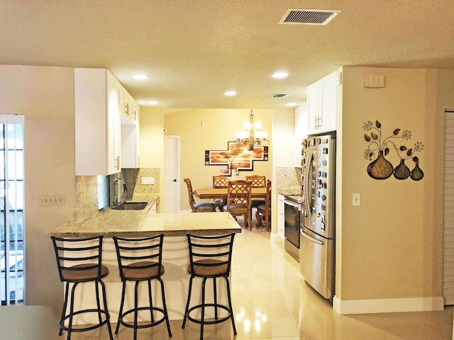
{"type": "Polygon", "coordinates": [[[248,145],[238,142],[227,144],[227,150],[205,150],[205,165],[226,165],[227,169],[219,172],[231,176],[232,171],[236,175],[240,170],[253,171],[254,161],[268,160],[268,147],[255,146],[250,150],[248,145]]]}

